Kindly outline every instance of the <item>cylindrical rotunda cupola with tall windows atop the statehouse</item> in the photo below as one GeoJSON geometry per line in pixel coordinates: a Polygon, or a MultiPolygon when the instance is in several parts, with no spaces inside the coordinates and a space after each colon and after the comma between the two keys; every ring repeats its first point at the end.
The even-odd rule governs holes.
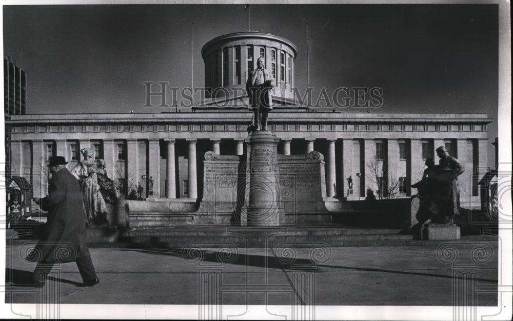
{"type": "MultiPolygon", "coordinates": [[[[205,63],[205,87],[239,96],[245,90],[248,72],[257,68],[258,57],[274,77],[273,95],[292,98],[294,61],[298,49],[285,38],[269,33],[247,31],[225,34],[205,44],[201,55],[205,63]],[[226,89],[226,90],[225,90],[226,89]]],[[[225,95],[224,94],[224,95],[225,95]]],[[[219,96],[218,94],[212,96],[219,96]]]]}

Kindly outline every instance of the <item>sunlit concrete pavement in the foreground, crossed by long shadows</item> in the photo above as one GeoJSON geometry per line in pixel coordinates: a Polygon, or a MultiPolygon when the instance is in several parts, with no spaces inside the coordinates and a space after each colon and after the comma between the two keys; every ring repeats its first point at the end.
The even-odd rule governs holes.
{"type": "Polygon", "coordinates": [[[6,252],[5,300],[45,300],[63,307],[221,303],[450,308],[457,287],[453,273],[465,266],[477,277],[473,305],[496,306],[498,242],[464,241],[448,242],[447,253],[438,250],[438,255],[439,245],[332,247],[317,254],[312,248],[293,247],[288,252],[242,248],[232,254],[222,247],[198,247],[188,254],[173,248],[94,248],[90,252],[100,284],[77,287],[80,274],[74,263],[68,263],[55,267],[42,289],[24,286],[34,264],[22,259],[22,245],[13,245],[6,252]],[[476,260],[472,251],[480,246],[489,257],[476,260]],[[452,262],[451,251],[457,253],[452,262]]]}

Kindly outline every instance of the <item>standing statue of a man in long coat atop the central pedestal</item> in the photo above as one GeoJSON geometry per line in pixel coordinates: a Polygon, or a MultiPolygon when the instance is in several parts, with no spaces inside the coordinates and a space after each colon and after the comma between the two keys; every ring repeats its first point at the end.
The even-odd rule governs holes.
{"type": "Polygon", "coordinates": [[[257,69],[251,71],[246,82],[249,105],[253,112],[250,131],[267,130],[267,113],[272,110],[271,89],[275,83],[269,71],[264,69],[264,58],[257,59],[257,69]]]}

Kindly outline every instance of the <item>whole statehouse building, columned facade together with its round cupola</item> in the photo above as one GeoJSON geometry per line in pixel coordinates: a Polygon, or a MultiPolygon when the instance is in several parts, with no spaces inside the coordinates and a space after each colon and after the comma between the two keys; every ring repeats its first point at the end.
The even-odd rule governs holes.
{"type": "Polygon", "coordinates": [[[202,56],[205,87],[223,89],[207,95],[190,112],[11,114],[6,126],[12,174],[26,177],[33,184],[34,196],[43,197],[47,193],[46,160],[64,155],[71,169],[82,159],[80,150],[90,147],[95,158],[105,159],[109,177],[120,183],[124,193],[139,183],[149,197],[146,202],[201,200],[205,153],[246,152],[252,114],[247,103],[243,104],[248,99],[245,91],[235,88],[244,88],[247,72],[255,69],[262,56],[264,68],[276,81],[268,129],[280,139],[278,153],[321,153],[324,197],[343,202],[363,199],[368,188],[380,193],[369,173],[372,157],[386,163],[399,180],[397,196],[409,197],[416,193],[411,184],[422,177],[425,159],[433,157],[438,163],[435,149],[445,146],[466,167],[459,179],[462,206],[468,201],[479,206],[480,190],[469,177],[488,171],[487,124],[491,119],[486,114],[315,111],[294,101],[297,48],[272,34],[222,35],[203,46],[202,56]]]}

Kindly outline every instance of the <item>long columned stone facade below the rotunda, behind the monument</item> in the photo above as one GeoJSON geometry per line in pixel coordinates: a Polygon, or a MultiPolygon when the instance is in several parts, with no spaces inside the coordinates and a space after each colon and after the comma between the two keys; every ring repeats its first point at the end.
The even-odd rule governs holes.
{"type": "MultiPolygon", "coordinates": [[[[65,156],[71,169],[83,159],[81,148],[100,145],[94,147],[99,153],[95,158],[105,159],[107,175],[123,184],[124,193],[140,182],[148,195],[151,177],[153,196],[173,199],[203,195],[206,151],[245,153],[245,128],[250,119],[251,114],[241,110],[104,114],[101,121],[87,114],[13,115],[6,124],[11,130],[15,174],[34,182],[36,197],[47,192],[45,161],[50,155],[65,156]]],[[[410,186],[422,178],[426,158],[438,163],[435,149],[446,146],[466,167],[459,177],[462,202],[477,202],[479,189],[472,183],[472,174],[487,170],[488,123],[486,114],[311,113],[298,109],[269,114],[270,127],[281,139],[279,152],[321,152],[326,162],[325,196],[348,196],[347,178],[351,176],[352,199],[365,197],[368,188],[381,192],[379,177],[373,177],[371,170],[375,158],[384,176],[400,180],[398,197],[417,193],[410,186]]]]}

